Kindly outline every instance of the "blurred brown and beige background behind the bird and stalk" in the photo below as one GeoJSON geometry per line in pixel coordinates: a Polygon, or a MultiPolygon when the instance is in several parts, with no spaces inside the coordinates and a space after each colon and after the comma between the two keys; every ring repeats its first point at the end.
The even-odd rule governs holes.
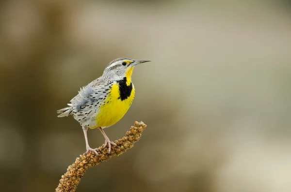
{"type": "Polygon", "coordinates": [[[55,190],[85,152],[79,123],[56,110],[127,57],[152,62],[134,69],[135,101],[105,132],[147,129],[77,192],[290,192],[290,5],[1,0],[0,191],[55,190]]]}

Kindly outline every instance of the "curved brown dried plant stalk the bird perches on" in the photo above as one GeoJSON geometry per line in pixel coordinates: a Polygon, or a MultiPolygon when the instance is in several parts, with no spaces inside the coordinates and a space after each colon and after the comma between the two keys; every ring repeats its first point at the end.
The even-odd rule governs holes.
{"type": "Polygon", "coordinates": [[[97,157],[94,152],[89,151],[87,154],[80,155],[76,161],[67,168],[67,172],[60,179],[59,185],[55,192],[75,192],[81,178],[86,173],[89,167],[98,165],[100,162],[105,162],[114,155],[121,155],[127,149],[132,148],[133,144],[139,141],[142,132],[146,129],[146,124],[135,121],[134,126],[131,126],[130,131],[126,132],[126,136],[118,139],[114,143],[117,146],[112,146],[111,154],[108,154],[108,147],[103,148],[104,144],[99,147],[97,157]]]}

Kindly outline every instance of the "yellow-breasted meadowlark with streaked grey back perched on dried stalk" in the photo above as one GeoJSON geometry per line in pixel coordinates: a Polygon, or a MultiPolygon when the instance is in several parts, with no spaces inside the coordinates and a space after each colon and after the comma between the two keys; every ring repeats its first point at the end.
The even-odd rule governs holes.
{"type": "Polygon", "coordinates": [[[99,148],[90,148],[87,138],[88,129],[98,128],[105,138],[103,149],[116,144],[105,134],[105,128],[117,123],[129,110],[135,96],[131,82],[133,68],[150,60],[118,58],[111,61],[103,74],[84,86],[70,100],[68,107],[57,110],[59,118],[73,116],[80,125],[85,137],[86,154],[93,151],[97,156],[99,148]]]}

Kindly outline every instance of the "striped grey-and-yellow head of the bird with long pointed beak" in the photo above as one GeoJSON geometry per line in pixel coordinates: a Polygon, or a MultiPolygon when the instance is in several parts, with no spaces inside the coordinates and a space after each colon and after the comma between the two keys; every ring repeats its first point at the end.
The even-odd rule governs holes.
{"type": "Polygon", "coordinates": [[[113,77],[115,80],[121,80],[124,77],[127,78],[127,82],[131,82],[131,74],[133,68],[140,64],[149,62],[150,60],[138,60],[119,58],[111,61],[104,70],[104,74],[113,77]]]}

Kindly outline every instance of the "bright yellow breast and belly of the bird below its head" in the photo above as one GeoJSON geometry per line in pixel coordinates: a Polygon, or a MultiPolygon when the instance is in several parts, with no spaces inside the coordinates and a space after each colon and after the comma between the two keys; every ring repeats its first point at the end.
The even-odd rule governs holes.
{"type": "Polygon", "coordinates": [[[120,87],[124,85],[120,85],[118,83],[113,84],[112,88],[109,90],[105,103],[102,103],[95,118],[97,127],[111,126],[117,123],[126,114],[135,94],[133,85],[130,85],[131,88],[130,90],[127,90],[127,97],[125,97],[122,94],[123,88],[120,87]]]}

